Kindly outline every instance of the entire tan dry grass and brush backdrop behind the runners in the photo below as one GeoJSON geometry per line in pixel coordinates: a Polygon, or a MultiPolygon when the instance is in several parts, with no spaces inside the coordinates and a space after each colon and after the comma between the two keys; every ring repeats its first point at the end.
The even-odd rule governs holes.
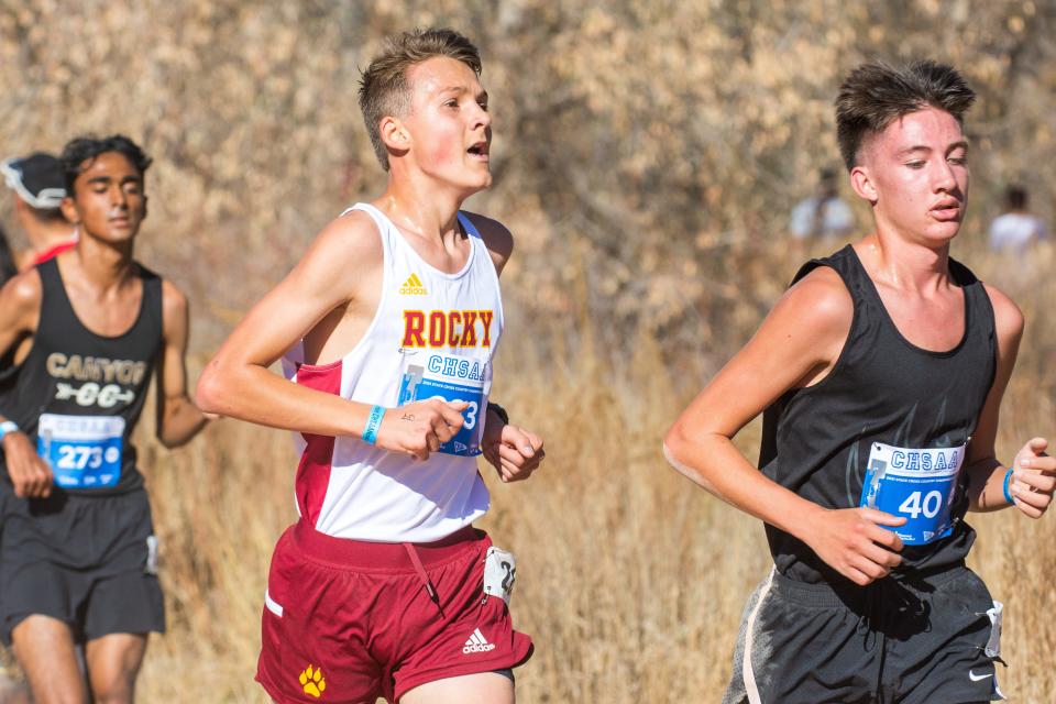
{"type": "MultiPolygon", "coordinates": [[[[865,58],[934,56],[979,90],[955,255],[1027,315],[1002,457],[1056,435],[1056,255],[996,257],[982,234],[1011,182],[1053,220],[1050,0],[0,0],[0,152],[82,132],[145,145],[138,251],[191,298],[196,377],[311,235],[383,187],[358,67],[427,24],[484,54],[496,186],[470,207],[518,238],[495,395],[548,443],[530,482],[488,474],[483,521],[518,553],[516,617],[538,647],[520,701],[719,700],[768,553],[761,526],[667,469],[660,438],[798,263],[839,244],[792,243],[785,221],[838,163],[832,99],[865,58]]],[[[9,202],[0,215],[16,235],[9,202]]],[[[264,701],[252,674],[270,551],[294,517],[289,438],[223,421],[167,452],[143,426],[169,632],[140,700],[264,701]]],[[[757,437],[738,438],[752,457],[757,437]]],[[[1056,701],[1054,517],[972,522],[971,563],[1008,607],[1002,686],[1056,701]]]]}

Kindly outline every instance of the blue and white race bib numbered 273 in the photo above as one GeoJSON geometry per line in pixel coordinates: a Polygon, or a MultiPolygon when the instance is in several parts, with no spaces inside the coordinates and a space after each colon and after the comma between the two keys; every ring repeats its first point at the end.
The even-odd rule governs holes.
{"type": "Polygon", "coordinates": [[[124,418],[41,415],[36,453],[65,488],[113,486],[121,479],[124,418]]]}

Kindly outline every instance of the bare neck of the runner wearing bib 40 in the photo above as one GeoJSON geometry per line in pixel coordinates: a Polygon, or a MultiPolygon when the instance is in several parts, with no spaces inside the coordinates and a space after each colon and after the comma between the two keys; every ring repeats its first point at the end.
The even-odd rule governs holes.
{"type": "Polygon", "coordinates": [[[894,288],[934,290],[949,280],[949,243],[932,249],[873,232],[856,250],[879,280],[894,288]]]}

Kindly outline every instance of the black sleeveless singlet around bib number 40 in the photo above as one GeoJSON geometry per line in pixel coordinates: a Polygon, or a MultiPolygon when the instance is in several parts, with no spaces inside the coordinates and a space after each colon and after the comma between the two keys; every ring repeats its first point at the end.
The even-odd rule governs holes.
{"type": "MultiPolygon", "coordinates": [[[[817,384],[791,389],[763,414],[759,466],[771,480],[826,508],[859,506],[873,443],[956,448],[968,443],[997,369],[993,308],[981,282],[949,260],[965,296],[965,332],[957,346],[932,352],[899,332],[855,250],[848,245],[807,262],[793,284],[818,266],[839,274],[854,300],[854,320],[833,370],[817,384]]],[[[895,578],[961,561],[975,541],[964,521],[967,472],[950,502],[950,535],[905,546],[895,578]]],[[[804,542],[767,525],[778,570],[803,582],[838,582],[839,573],[804,542]]]]}

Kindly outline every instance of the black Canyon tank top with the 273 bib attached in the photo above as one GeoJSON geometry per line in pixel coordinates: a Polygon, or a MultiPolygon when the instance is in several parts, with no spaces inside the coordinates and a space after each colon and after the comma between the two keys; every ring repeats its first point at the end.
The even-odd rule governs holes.
{"type": "MultiPolygon", "coordinates": [[[[69,302],[56,261],[37,266],[43,298],[33,346],[0,395],[70,494],[121,494],[143,485],[131,436],[162,349],[162,279],[135,265],[143,297],[124,333],[88,330],[69,302]]],[[[0,453],[2,457],[2,453],[0,453]]],[[[10,485],[7,466],[3,479],[10,485]]]]}

